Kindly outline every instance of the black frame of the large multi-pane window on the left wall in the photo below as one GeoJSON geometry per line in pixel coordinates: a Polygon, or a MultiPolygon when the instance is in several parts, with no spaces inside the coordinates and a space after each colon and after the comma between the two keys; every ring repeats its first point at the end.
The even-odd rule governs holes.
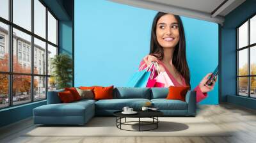
{"type": "MultiPolygon", "coordinates": [[[[54,15],[54,13],[51,11],[51,9],[46,6],[46,4],[44,3],[44,1],[42,0],[38,0],[43,6],[45,6],[45,38],[39,36],[38,34],[35,34],[34,32],[34,15],[35,15],[35,11],[34,11],[34,1],[35,0],[31,0],[31,31],[13,23],[13,0],[9,0],[8,1],[8,6],[9,6],[9,11],[8,11],[8,20],[4,19],[3,17],[0,17],[0,22],[2,22],[3,24],[7,24],[8,25],[8,50],[9,50],[9,70],[8,72],[1,72],[0,71],[0,74],[3,74],[3,75],[8,75],[8,98],[9,98],[9,103],[8,103],[8,106],[7,107],[0,107],[0,110],[1,109],[7,109],[7,108],[10,108],[10,107],[15,107],[15,106],[19,106],[19,105],[24,105],[24,104],[28,104],[28,103],[32,103],[32,102],[40,102],[42,100],[47,100],[47,91],[48,91],[48,80],[49,80],[49,77],[51,77],[51,75],[48,74],[48,69],[46,68],[45,70],[45,74],[42,73],[42,74],[36,74],[34,73],[34,61],[35,61],[35,57],[34,57],[34,38],[37,38],[38,40],[41,40],[41,41],[44,41],[45,42],[45,50],[46,50],[46,55],[45,55],[45,59],[46,59],[46,67],[48,66],[48,63],[49,63],[49,59],[48,59],[48,44],[49,45],[52,45],[53,47],[56,47],[57,49],[57,53],[56,55],[59,54],[59,39],[58,39],[58,34],[59,34],[59,29],[58,29],[58,24],[59,24],[59,19],[56,17],[56,15],[54,15]],[[56,36],[57,36],[57,41],[56,41],[56,44],[52,43],[51,41],[48,40],[48,11],[49,13],[51,13],[51,15],[54,17],[54,19],[56,19],[56,36]],[[17,73],[17,72],[13,72],[13,28],[19,30],[19,31],[22,31],[23,33],[26,33],[26,34],[29,34],[31,36],[31,54],[29,54],[29,62],[31,62],[31,72],[30,73],[17,73]],[[20,103],[20,104],[17,104],[17,105],[13,105],[13,92],[12,92],[12,88],[13,88],[13,75],[29,75],[30,78],[31,78],[31,87],[30,87],[30,96],[31,96],[31,99],[30,101],[26,102],[26,103],[20,103]],[[35,94],[34,94],[34,78],[35,77],[45,77],[45,98],[44,99],[40,99],[40,100],[35,100],[34,97],[35,97],[35,94]]],[[[18,42],[18,41],[17,41],[18,42]]],[[[17,45],[19,45],[17,43],[17,45]]],[[[17,52],[21,52],[23,54],[23,45],[21,45],[21,50],[19,50],[19,47],[16,47],[17,48],[17,52]]],[[[25,47],[26,48],[26,47],[25,47]]],[[[25,52],[26,55],[27,55],[27,51],[25,49],[25,52]]],[[[17,55],[18,56],[18,55],[17,55]]],[[[17,57],[19,58],[19,57],[17,57]]],[[[23,58],[23,57],[22,57],[23,58]]],[[[26,60],[27,61],[27,60],[26,60]]]]}

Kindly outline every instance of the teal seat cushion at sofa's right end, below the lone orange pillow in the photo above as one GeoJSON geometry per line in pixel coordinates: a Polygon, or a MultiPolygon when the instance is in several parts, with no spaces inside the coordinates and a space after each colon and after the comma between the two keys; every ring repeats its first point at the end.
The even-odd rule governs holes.
{"type": "Polygon", "coordinates": [[[152,99],[154,107],[158,107],[159,110],[187,110],[188,103],[181,100],[166,100],[166,99],[152,99]]]}

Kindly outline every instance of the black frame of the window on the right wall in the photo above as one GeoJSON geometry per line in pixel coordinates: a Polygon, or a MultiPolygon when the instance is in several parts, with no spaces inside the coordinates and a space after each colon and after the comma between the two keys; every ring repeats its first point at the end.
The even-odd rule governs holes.
{"type": "MultiPolygon", "coordinates": [[[[243,96],[241,94],[239,94],[239,77],[247,77],[247,96],[243,96],[246,98],[253,98],[255,99],[256,97],[252,97],[251,96],[251,87],[250,87],[250,79],[251,77],[256,77],[256,75],[251,75],[251,63],[250,63],[250,50],[251,48],[256,46],[256,43],[252,43],[250,44],[250,19],[252,19],[253,17],[256,17],[256,13],[253,13],[253,15],[251,15],[250,17],[248,17],[246,20],[244,20],[239,26],[236,27],[236,95],[237,96],[243,96]],[[241,47],[239,49],[239,27],[243,26],[243,24],[245,24],[246,22],[248,22],[248,41],[247,41],[247,45],[245,47],[241,47]],[[248,63],[248,67],[247,67],[247,75],[239,75],[239,51],[240,50],[244,50],[247,49],[247,63],[248,63]]],[[[255,35],[256,36],[256,35],[255,35]]]]}

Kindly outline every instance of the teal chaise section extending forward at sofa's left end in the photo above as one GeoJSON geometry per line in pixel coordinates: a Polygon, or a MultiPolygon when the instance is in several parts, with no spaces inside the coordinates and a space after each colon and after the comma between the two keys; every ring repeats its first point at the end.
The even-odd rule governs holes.
{"type": "Polygon", "coordinates": [[[33,109],[35,124],[85,124],[95,115],[93,102],[47,104],[33,109]]]}

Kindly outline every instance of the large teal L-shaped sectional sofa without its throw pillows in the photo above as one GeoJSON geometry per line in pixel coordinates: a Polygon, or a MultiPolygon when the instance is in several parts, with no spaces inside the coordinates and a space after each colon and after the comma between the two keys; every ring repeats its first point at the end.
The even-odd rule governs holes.
{"type": "Polygon", "coordinates": [[[146,102],[158,107],[164,116],[195,116],[196,93],[188,91],[186,101],[166,100],[169,89],[158,87],[115,87],[113,99],[79,100],[61,103],[58,92],[49,91],[47,105],[33,109],[35,124],[86,124],[94,116],[113,116],[113,112],[123,107],[140,110],[146,102]]]}

